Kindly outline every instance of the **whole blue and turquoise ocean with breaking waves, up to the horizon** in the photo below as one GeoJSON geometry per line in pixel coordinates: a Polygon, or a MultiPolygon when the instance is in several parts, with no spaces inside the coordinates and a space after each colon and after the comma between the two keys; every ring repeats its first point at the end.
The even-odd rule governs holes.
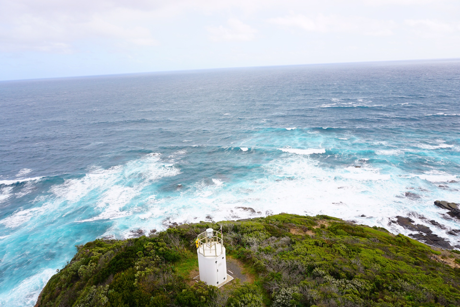
{"type": "Polygon", "coordinates": [[[433,205],[460,202],[459,73],[449,60],[0,82],[0,305],[33,306],[77,244],[169,222],[329,214],[408,234],[389,225],[404,215],[459,244],[433,205]]]}

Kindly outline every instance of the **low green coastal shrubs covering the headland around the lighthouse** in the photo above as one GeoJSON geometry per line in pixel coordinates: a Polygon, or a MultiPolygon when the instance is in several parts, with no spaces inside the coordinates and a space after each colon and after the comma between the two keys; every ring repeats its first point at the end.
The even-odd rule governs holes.
{"type": "Polygon", "coordinates": [[[43,289],[40,307],[460,306],[460,255],[326,215],[201,222],[127,240],[98,239],[43,289]],[[196,235],[224,232],[250,282],[192,278],[196,235]]]}

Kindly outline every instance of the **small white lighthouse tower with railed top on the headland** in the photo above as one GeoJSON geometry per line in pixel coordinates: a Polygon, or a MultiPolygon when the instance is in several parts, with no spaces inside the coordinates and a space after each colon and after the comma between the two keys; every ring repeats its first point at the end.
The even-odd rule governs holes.
{"type": "Polygon", "coordinates": [[[196,252],[202,282],[219,288],[233,279],[227,274],[222,226],[219,231],[208,228],[200,233],[196,238],[196,252]]]}

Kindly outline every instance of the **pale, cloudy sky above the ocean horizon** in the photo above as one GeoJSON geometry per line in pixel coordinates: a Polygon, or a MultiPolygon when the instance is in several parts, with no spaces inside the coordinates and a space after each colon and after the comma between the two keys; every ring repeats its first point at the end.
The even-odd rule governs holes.
{"type": "Polygon", "coordinates": [[[0,0],[0,80],[424,58],[459,0],[0,0]]]}

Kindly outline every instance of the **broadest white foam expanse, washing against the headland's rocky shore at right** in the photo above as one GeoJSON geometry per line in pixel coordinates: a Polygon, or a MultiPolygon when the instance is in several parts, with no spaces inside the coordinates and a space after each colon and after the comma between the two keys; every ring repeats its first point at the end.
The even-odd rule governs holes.
{"type": "MultiPolygon", "coordinates": [[[[393,176],[372,167],[323,168],[318,161],[305,155],[284,157],[263,168],[265,174],[253,182],[227,185],[225,189],[196,185],[195,196],[185,193],[168,201],[167,216],[184,222],[205,220],[207,214],[213,220],[260,216],[265,212],[328,214],[407,235],[407,230],[389,223],[389,218],[413,216],[411,212],[415,211],[430,220],[455,227],[455,222],[440,220],[439,209],[433,206],[433,194],[428,190],[432,184],[418,176],[393,176]],[[419,187],[410,190],[421,197],[417,201],[404,196],[405,187],[410,185],[419,187]],[[261,213],[253,214],[235,207],[251,207],[261,213]],[[361,217],[362,214],[366,217],[361,217]]],[[[447,194],[445,198],[450,199],[447,194]]],[[[420,223],[424,222],[420,220],[420,223]]],[[[449,237],[441,229],[432,230],[449,237]]],[[[457,244],[458,238],[449,239],[457,244]]]]}

